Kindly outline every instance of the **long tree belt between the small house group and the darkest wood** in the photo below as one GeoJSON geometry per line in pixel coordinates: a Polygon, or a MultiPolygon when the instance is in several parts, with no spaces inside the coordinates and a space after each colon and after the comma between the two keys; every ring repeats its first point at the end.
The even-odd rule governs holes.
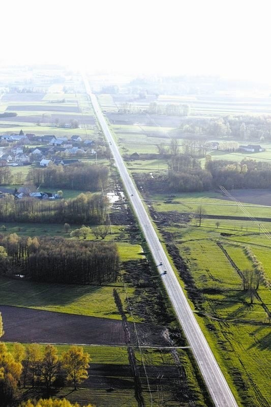
{"type": "Polygon", "coordinates": [[[108,200],[100,193],[81,193],[74,199],[16,199],[5,195],[0,199],[0,221],[29,223],[92,223],[105,220],[108,200]]]}

